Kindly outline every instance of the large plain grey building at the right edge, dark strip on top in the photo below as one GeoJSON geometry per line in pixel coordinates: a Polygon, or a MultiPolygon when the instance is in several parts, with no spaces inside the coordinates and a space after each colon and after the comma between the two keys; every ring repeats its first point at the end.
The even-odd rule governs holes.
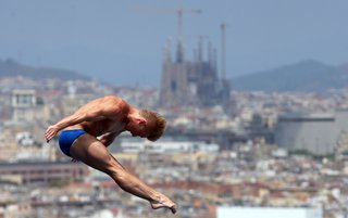
{"type": "Polygon", "coordinates": [[[289,151],[332,154],[340,134],[348,130],[347,118],[347,111],[281,115],[275,127],[275,143],[289,151]]]}

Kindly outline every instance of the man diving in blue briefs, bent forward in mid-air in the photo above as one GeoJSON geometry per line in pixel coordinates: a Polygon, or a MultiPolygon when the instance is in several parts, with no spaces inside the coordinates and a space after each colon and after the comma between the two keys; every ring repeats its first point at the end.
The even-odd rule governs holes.
{"type": "Polygon", "coordinates": [[[138,110],[120,97],[107,95],[48,127],[45,137],[49,142],[61,131],[59,145],[65,155],[108,174],[124,191],[149,201],[153,209],[166,207],[175,214],[176,205],[167,196],[127,171],[107,149],[123,131],[156,141],[165,124],[158,113],[138,110]]]}

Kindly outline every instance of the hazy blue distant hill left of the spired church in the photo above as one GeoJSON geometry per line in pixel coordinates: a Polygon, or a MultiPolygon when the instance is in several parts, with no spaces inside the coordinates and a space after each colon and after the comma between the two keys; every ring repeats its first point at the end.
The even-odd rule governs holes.
{"type": "Polygon", "coordinates": [[[0,60],[0,77],[25,76],[33,79],[40,78],[59,78],[63,80],[89,79],[72,70],[50,68],[50,67],[33,67],[20,64],[13,60],[0,60]]]}

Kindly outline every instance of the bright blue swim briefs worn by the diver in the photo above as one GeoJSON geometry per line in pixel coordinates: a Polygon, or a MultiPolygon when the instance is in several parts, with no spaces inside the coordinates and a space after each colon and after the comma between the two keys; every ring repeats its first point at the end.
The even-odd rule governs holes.
{"type": "Polygon", "coordinates": [[[72,156],[70,148],[73,145],[74,141],[84,133],[86,132],[82,129],[63,130],[59,136],[59,146],[62,152],[67,156],[72,156]]]}

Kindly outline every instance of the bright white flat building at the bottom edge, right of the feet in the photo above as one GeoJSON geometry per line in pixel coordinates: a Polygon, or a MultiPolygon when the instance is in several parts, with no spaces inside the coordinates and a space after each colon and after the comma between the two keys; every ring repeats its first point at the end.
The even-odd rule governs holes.
{"type": "Polygon", "coordinates": [[[323,218],[322,208],[217,207],[216,218],[323,218]]]}

